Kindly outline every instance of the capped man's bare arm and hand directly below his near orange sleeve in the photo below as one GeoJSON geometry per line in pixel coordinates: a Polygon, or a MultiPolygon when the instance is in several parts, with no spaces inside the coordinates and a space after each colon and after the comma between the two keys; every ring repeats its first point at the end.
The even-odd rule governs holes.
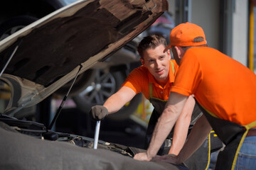
{"type": "Polygon", "coordinates": [[[187,98],[188,96],[183,96],[181,94],[171,92],[164,112],[160,116],[156,123],[156,127],[154,128],[149,148],[147,149],[146,153],[136,154],[134,159],[149,161],[156,155],[167,135],[174,127],[174,124],[176,123],[179,115],[181,115],[181,111],[186,103],[187,98]]]}

